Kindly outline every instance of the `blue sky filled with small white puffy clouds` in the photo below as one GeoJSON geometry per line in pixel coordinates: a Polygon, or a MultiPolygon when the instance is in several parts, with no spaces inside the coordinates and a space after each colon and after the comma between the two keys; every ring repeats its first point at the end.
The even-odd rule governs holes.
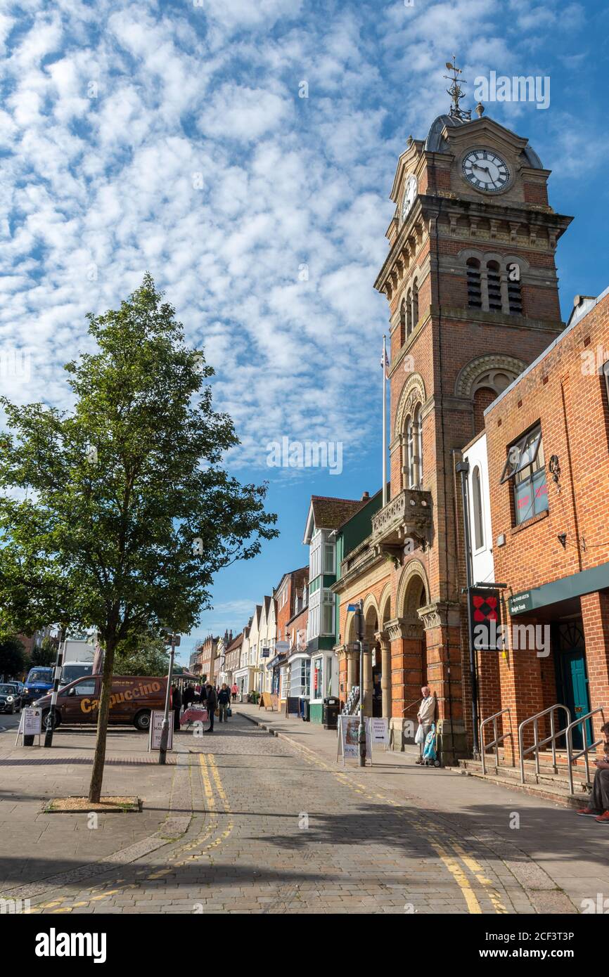
{"type": "Polygon", "coordinates": [[[557,252],[564,318],[609,283],[608,28],[596,0],[3,6],[0,351],[29,356],[3,390],[68,406],[61,367],[87,348],[85,313],[149,270],[216,368],[242,443],[228,463],[269,479],[280,516],[280,539],[218,577],[183,654],[306,563],[312,493],[380,485],[387,310],[372,282],[397,158],[447,110],[453,53],[470,93],[491,70],[549,76],[546,110],[487,114],[529,137],[552,206],[575,216],[557,252]],[[341,442],[342,474],[269,468],[284,436],[341,442]]]}

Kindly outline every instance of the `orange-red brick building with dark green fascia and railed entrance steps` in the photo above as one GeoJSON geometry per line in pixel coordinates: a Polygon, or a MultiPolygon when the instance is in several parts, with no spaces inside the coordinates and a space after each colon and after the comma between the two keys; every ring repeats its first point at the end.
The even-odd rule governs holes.
{"type": "MultiPolygon", "coordinates": [[[[576,303],[564,332],[485,412],[509,647],[479,656],[480,711],[509,708],[512,731],[556,702],[572,720],[609,706],[609,289],[576,303]],[[525,631],[513,625],[533,625],[535,637],[529,628],[518,641],[525,631]]],[[[599,715],[588,742],[591,726],[597,738],[599,715]]]]}

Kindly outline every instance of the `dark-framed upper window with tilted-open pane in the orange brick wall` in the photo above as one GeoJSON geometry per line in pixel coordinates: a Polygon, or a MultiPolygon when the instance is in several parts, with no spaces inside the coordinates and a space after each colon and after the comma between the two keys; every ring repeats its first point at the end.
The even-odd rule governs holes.
{"type": "Polygon", "coordinates": [[[544,445],[541,425],[536,425],[507,451],[501,483],[511,480],[516,525],[547,509],[544,445]]]}

